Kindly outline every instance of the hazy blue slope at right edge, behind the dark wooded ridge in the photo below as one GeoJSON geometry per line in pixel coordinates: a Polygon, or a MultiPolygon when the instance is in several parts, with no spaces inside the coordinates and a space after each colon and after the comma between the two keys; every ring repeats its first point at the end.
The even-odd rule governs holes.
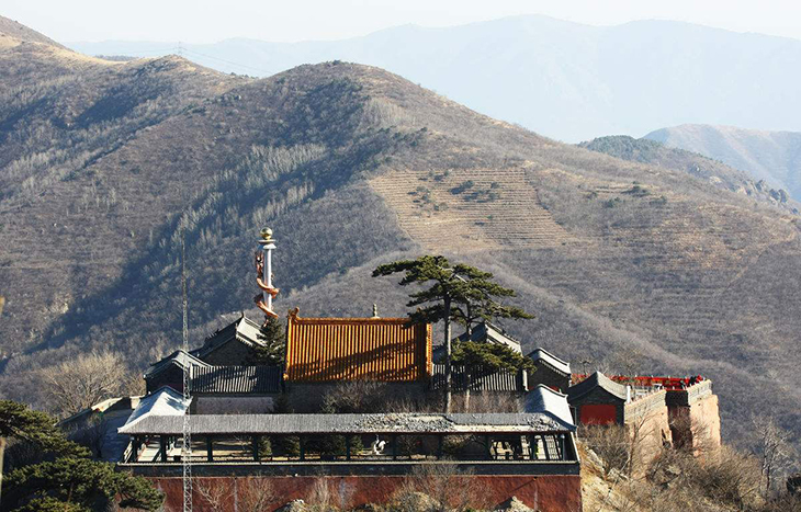
{"type": "Polygon", "coordinates": [[[801,200],[801,132],[680,125],[657,129],[644,138],[721,160],[801,200]]]}

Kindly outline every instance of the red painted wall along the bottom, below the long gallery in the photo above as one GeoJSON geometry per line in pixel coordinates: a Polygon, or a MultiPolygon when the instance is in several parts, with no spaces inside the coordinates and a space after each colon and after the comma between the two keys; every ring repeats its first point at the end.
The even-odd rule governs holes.
{"type": "MultiPolygon", "coordinates": [[[[475,490],[475,505],[495,508],[512,496],[541,512],[580,512],[582,480],[575,476],[458,476],[452,486],[467,486],[475,490]],[[459,481],[464,480],[464,481],[459,481]]],[[[150,478],[157,488],[167,494],[165,512],[180,511],[183,499],[181,478],[150,478]]],[[[199,487],[214,489],[225,503],[226,512],[244,512],[247,509],[248,489],[256,489],[259,482],[269,481],[269,487],[279,497],[268,510],[302,499],[313,501],[315,488],[327,486],[336,507],[358,507],[366,503],[384,503],[406,481],[402,476],[348,476],[348,477],[201,477],[196,479],[193,504],[195,511],[211,510],[199,487]],[[251,487],[248,487],[251,486],[251,487]]],[[[450,482],[449,482],[450,483],[450,482]]],[[[207,492],[208,493],[208,492],[207,492]]]]}

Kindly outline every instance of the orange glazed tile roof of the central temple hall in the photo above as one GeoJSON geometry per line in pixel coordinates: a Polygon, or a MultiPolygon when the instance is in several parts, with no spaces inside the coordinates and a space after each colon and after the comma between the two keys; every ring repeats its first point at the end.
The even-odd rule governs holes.
{"type": "Polygon", "coordinates": [[[408,318],[301,318],[286,322],[289,382],[415,382],[431,375],[431,325],[408,318]]]}

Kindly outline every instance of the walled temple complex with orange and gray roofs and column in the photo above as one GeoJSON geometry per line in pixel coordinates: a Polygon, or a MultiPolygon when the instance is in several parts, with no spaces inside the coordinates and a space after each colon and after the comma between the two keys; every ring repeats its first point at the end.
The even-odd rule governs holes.
{"type": "MultiPolygon", "coordinates": [[[[151,478],[168,508],[182,499],[185,464],[193,478],[214,485],[264,479],[280,490],[274,508],[320,481],[348,486],[351,507],[380,502],[419,468],[447,464],[465,485],[482,486],[492,507],[515,496],[535,510],[580,510],[582,425],[627,429],[641,440],[643,459],[665,446],[720,444],[710,380],[579,375],[541,348],[527,355],[534,372],[453,365],[454,398],[481,397],[484,409],[464,410],[467,401],[456,399],[454,412],[442,412],[445,364],[431,326],[376,310],[312,318],[291,309],[282,363],[255,364],[268,343],[262,328],[280,317],[274,249],[272,231],[262,230],[253,300],[264,321],[241,315],[195,349],[155,362],[144,374],[147,395],[126,402],[127,420],[110,434],[123,447],[120,468],[151,478]],[[327,409],[354,395],[371,399],[372,409],[327,409]]],[[[454,341],[518,354],[524,345],[489,322],[454,341]]]]}

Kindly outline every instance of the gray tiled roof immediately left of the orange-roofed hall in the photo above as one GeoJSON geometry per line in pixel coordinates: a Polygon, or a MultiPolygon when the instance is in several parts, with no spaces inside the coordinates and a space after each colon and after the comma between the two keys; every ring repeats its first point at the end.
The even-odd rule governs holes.
{"type": "Polygon", "coordinates": [[[205,366],[192,369],[190,389],[199,394],[271,394],[281,391],[280,366],[205,366]]]}

